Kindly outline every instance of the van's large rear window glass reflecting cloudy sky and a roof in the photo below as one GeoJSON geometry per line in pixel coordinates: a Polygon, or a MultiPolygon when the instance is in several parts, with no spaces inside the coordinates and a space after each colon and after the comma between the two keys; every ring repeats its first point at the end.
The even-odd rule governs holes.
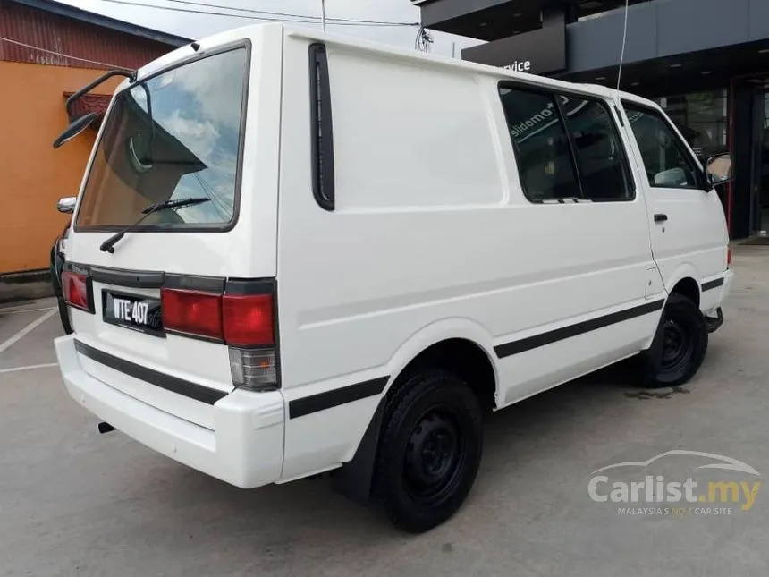
{"type": "Polygon", "coordinates": [[[107,117],[76,226],[129,225],[153,203],[187,198],[210,202],[158,211],[137,229],[231,223],[246,63],[241,47],[123,90],[107,117]]]}

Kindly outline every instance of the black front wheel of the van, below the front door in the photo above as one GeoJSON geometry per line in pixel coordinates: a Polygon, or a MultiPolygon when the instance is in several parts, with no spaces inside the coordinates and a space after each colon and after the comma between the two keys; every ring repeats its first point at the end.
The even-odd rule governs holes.
{"type": "Polygon", "coordinates": [[[673,293],[663,310],[661,351],[652,359],[641,355],[644,385],[679,386],[697,374],[707,352],[707,324],[702,311],[688,298],[673,293]]]}

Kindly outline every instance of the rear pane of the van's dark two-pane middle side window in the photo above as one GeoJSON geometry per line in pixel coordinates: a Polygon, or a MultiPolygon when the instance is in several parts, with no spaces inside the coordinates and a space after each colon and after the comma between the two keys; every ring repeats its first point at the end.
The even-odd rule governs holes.
{"type": "Polygon", "coordinates": [[[571,148],[555,96],[500,88],[524,192],[529,200],[579,198],[571,148]]]}

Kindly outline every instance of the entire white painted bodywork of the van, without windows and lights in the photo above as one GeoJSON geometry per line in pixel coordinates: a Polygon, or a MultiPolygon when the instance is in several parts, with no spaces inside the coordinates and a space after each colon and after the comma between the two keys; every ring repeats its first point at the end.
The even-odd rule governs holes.
{"type": "MultiPolygon", "coordinates": [[[[179,48],[139,81],[239,42],[249,74],[237,218],[216,231],[129,232],[113,254],[99,246],[114,230],[75,226],[68,244],[84,267],[275,286],[280,388],[257,393],[232,385],[222,342],[104,321],[105,291],[158,298],[159,286],[93,280],[95,311],[71,309],[74,335],[56,342],[63,378],[78,403],[145,445],[239,487],[328,471],[353,458],[383,395],[433,344],[465,339],[486,352],[500,409],[648,348],[681,278],[708,284],[706,311],[729,292],[716,195],[649,186],[615,91],[279,25],[179,48]],[[315,43],[328,64],[333,208],[314,195],[315,43]],[[601,101],[632,199],[528,199],[502,81],[601,101]],[[77,342],[213,396],[131,377],[77,342]]],[[[82,202],[81,191],[78,211],[82,202]]]]}

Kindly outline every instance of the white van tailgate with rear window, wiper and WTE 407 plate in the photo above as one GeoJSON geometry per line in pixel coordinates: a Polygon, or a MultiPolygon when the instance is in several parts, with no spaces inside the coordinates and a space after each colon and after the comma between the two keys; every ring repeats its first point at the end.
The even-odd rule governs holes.
{"type": "Polygon", "coordinates": [[[83,368],[208,429],[233,387],[224,293],[254,301],[275,277],[275,225],[260,225],[275,221],[282,29],[233,35],[180,49],[115,96],[65,275],[83,368]]]}

